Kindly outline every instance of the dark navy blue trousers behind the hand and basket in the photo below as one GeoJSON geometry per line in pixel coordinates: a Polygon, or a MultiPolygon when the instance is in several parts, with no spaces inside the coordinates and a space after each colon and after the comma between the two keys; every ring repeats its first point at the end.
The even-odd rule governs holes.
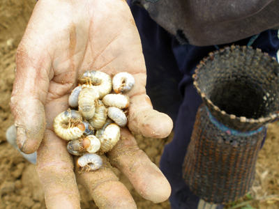
{"type": "MultiPolygon", "coordinates": [[[[251,37],[227,45],[196,47],[180,45],[174,36],[151,20],[143,8],[128,1],[142,40],[147,69],[146,91],[154,109],[163,111],[174,120],[174,138],[165,146],[160,160],[170,185],[172,209],[195,209],[199,198],[184,183],[182,164],[190,142],[197,109],[202,100],[193,87],[192,75],[199,61],[209,52],[227,45],[250,45],[251,37]]],[[[259,33],[252,47],[276,57],[279,49],[278,31],[259,33]]],[[[220,206],[219,208],[222,208],[220,206]]]]}

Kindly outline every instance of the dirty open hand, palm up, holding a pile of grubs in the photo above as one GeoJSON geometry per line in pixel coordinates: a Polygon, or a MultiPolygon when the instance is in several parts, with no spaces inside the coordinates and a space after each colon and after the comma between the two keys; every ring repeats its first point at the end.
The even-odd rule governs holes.
{"type": "Polygon", "coordinates": [[[24,153],[38,149],[37,171],[47,208],[80,208],[77,183],[89,190],[99,208],[136,208],[108,163],[98,171],[77,172],[66,141],[53,132],[54,117],[68,109],[68,96],[86,70],[135,77],[128,93],[130,130],[121,130],[121,141],[107,158],[145,199],[158,203],[169,197],[169,183],[130,132],[167,137],[172,121],[153,110],[146,95],[140,37],[126,1],[38,1],[16,62],[10,105],[17,145],[24,153]]]}

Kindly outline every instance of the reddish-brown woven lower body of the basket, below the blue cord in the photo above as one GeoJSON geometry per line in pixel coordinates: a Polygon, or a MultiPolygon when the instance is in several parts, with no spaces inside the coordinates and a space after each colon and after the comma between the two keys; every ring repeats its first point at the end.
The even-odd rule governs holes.
{"type": "Polygon", "coordinates": [[[204,105],[199,107],[183,164],[187,185],[209,203],[239,199],[252,186],[265,130],[247,137],[227,134],[213,125],[204,105]]]}

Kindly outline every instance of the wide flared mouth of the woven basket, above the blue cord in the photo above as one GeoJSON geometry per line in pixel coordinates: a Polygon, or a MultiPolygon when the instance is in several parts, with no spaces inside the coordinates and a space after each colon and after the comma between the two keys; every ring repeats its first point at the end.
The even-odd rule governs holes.
{"type": "Polygon", "coordinates": [[[279,116],[279,64],[260,49],[231,46],[211,52],[194,85],[214,117],[236,130],[257,130],[279,116]]]}

